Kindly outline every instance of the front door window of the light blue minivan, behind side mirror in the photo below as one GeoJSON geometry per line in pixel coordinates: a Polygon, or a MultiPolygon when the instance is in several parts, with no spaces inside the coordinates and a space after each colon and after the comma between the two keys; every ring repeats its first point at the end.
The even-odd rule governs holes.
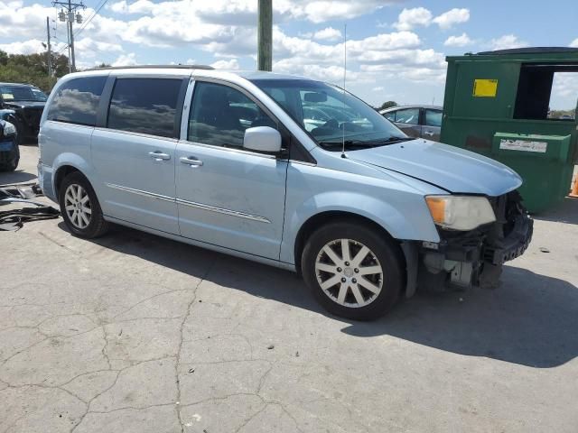
{"type": "Polygon", "coordinates": [[[190,142],[243,147],[245,130],[275,122],[251,99],[234,88],[197,82],[189,115],[190,142]]]}

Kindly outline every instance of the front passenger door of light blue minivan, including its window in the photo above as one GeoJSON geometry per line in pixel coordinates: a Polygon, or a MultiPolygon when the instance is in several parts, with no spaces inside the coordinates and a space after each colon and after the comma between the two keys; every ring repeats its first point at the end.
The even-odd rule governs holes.
{"type": "Polygon", "coordinates": [[[181,234],[279,260],[287,158],[243,149],[247,128],[276,122],[240,88],[196,81],[191,92],[176,152],[181,234]]]}

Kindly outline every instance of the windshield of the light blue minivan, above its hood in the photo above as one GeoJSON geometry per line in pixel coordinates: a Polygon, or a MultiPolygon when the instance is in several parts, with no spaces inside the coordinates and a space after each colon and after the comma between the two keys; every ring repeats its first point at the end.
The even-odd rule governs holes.
{"type": "Polygon", "coordinates": [[[376,110],[342,89],[308,79],[255,79],[323,148],[362,149],[408,140],[376,110]]]}

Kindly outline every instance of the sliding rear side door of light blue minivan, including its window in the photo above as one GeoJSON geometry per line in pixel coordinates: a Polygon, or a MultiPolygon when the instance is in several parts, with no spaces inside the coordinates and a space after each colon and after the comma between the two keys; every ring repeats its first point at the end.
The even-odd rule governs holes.
{"type": "Polygon", "coordinates": [[[120,76],[92,135],[105,215],[178,234],[175,149],[188,77],[120,76]]]}

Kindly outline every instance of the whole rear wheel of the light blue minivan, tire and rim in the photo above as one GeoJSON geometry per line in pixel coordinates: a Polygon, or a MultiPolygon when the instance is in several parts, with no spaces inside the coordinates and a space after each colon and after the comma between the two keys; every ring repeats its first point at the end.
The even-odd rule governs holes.
{"type": "Polygon", "coordinates": [[[89,180],[79,171],[62,180],[59,203],[64,223],[73,235],[87,239],[104,235],[108,225],[89,180]]]}

